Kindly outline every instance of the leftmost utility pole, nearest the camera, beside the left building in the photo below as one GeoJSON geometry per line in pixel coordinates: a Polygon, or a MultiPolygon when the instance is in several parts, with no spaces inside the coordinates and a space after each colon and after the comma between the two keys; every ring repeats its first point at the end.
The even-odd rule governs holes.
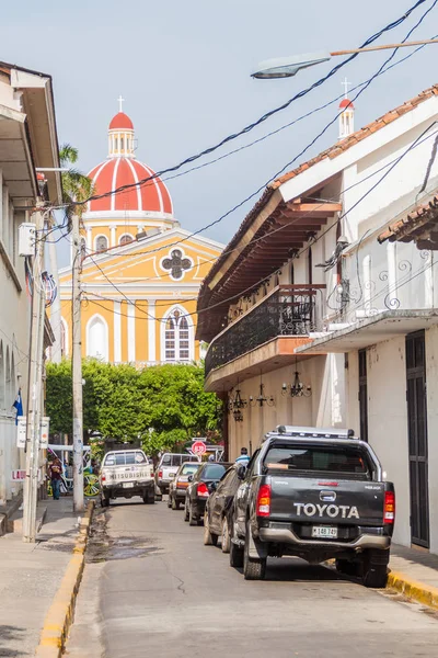
{"type": "Polygon", "coordinates": [[[39,419],[42,416],[43,345],[46,295],[43,288],[44,223],[42,203],[35,213],[36,245],[33,262],[32,324],[28,361],[28,392],[26,410],[26,479],[23,499],[23,542],[35,542],[36,503],[38,488],[39,419]]]}

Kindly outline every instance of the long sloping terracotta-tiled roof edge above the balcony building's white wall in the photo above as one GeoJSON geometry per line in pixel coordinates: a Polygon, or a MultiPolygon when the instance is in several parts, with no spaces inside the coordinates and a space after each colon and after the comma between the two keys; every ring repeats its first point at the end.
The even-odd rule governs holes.
{"type": "Polygon", "coordinates": [[[348,135],[348,137],[345,137],[345,139],[343,139],[342,141],[337,141],[326,150],[319,154],[316,157],[312,158],[311,160],[308,160],[307,162],[303,162],[302,164],[297,167],[297,169],[288,171],[280,178],[276,179],[273,183],[270,183],[270,186],[274,189],[279,188],[280,185],[283,185],[283,183],[286,183],[302,171],[306,171],[310,167],[313,167],[313,164],[318,164],[318,162],[321,162],[321,160],[324,160],[325,158],[330,158],[331,160],[333,160],[333,158],[341,156],[351,146],[355,146],[355,144],[358,144],[366,137],[369,137],[369,135],[372,135],[372,133],[384,128],[384,126],[388,126],[388,124],[392,123],[400,116],[403,116],[403,114],[406,114],[406,112],[411,112],[411,110],[414,110],[417,105],[424,103],[424,101],[427,101],[434,95],[438,95],[438,84],[434,84],[433,87],[429,87],[429,89],[425,89],[425,91],[422,91],[422,93],[419,93],[418,95],[414,97],[410,101],[406,101],[405,103],[403,103],[403,105],[399,105],[399,107],[387,112],[387,114],[383,114],[383,116],[380,116],[376,121],[372,121],[367,126],[360,128],[360,131],[356,131],[356,133],[348,135]]]}

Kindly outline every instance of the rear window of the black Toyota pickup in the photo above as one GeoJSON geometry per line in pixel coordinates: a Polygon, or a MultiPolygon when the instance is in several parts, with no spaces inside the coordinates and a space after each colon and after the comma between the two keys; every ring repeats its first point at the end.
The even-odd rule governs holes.
{"type": "Polygon", "coordinates": [[[263,461],[265,472],[293,470],[345,474],[354,479],[371,479],[371,468],[362,450],[354,446],[274,445],[263,461]]]}

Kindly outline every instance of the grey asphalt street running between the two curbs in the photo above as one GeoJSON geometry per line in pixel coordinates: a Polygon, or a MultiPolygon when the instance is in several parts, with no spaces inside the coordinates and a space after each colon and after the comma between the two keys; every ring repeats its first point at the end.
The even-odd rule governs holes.
{"type": "MultiPolygon", "coordinates": [[[[134,499],[137,501],[137,499],[134,499]]],[[[94,521],[70,658],[434,656],[438,616],[298,559],[244,581],[165,502],[94,521]]]]}

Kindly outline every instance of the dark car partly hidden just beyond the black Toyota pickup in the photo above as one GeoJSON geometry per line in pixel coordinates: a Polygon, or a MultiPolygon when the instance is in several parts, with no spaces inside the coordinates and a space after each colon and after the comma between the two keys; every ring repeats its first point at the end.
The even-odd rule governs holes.
{"type": "Polygon", "coordinates": [[[216,546],[218,537],[221,537],[222,553],[230,553],[233,500],[240,484],[238,466],[231,466],[207,499],[204,515],[204,544],[216,546]]]}

